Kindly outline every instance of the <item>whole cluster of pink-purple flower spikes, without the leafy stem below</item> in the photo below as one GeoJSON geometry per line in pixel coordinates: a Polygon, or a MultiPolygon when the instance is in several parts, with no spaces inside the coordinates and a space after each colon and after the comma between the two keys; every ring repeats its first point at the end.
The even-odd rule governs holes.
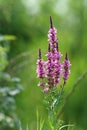
{"type": "Polygon", "coordinates": [[[38,86],[43,86],[43,91],[47,92],[49,89],[56,88],[60,84],[60,78],[64,80],[64,85],[70,74],[70,61],[67,53],[64,62],[60,59],[62,54],[59,52],[58,39],[56,36],[57,30],[53,27],[52,18],[50,17],[50,29],[48,32],[48,52],[46,54],[47,61],[43,61],[41,56],[41,49],[39,49],[37,60],[37,77],[40,78],[38,86]]]}

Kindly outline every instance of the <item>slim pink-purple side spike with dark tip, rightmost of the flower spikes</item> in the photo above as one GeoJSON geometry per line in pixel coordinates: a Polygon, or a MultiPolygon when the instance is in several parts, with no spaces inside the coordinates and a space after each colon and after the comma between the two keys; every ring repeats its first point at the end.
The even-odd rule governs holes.
{"type": "Polygon", "coordinates": [[[66,56],[65,56],[65,60],[63,62],[63,79],[64,79],[64,84],[66,83],[68,77],[69,77],[69,74],[70,74],[70,61],[68,59],[68,56],[67,56],[67,53],[66,53],[66,56]]]}

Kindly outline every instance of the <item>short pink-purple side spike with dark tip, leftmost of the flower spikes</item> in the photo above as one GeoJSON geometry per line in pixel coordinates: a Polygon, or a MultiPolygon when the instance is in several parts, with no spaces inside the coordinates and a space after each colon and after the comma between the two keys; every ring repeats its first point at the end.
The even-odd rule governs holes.
{"type": "Polygon", "coordinates": [[[41,59],[41,50],[39,49],[39,57],[37,60],[37,77],[38,78],[45,78],[45,69],[44,69],[44,61],[41,59]]]}

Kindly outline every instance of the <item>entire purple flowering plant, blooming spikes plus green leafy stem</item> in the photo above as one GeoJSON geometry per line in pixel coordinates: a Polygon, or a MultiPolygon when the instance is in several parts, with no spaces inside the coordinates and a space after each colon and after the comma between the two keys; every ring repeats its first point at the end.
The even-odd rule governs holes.
{"type": "Polygon", "coordinates": [[[48,118],[54,125],[58,106],[64,92],[64,86],[67,83],[70,74],[70,61],[67,53],[63,62],[62,53],[59,50],[57,30],[53,26],[52,17],[50,16],[50,29],[48,31],[48,52],[46,61],[42,58],[41,49],[38,51],[37,60],[37,77],[40,79],[38,86],[42,87],[44,101],[48,108],[48,118]]]}

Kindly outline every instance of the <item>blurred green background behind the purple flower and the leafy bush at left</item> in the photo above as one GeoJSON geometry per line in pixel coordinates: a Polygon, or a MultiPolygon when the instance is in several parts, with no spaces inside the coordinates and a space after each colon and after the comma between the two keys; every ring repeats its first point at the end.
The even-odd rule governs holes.
{"type": "MultiPolygon", "coordinates": [[[[86,0],[0,0],[0,34],[14,35],[10,42],[7,70],[21,78],[24,90],[16,96],[16,113],[22,123],[36,129],[36,110],[46,119],[43,94],[37,87],[38,49],[47,52],[49,16],[58,29],[59,48],[68,53],[71,75],[67,93],[77,78],[87,70],[87,1],[86,0]]],[[[74,122],[77,130],[87,130],[87,77],[78,85],[64,110],[65,122],[74,122]]]]}

